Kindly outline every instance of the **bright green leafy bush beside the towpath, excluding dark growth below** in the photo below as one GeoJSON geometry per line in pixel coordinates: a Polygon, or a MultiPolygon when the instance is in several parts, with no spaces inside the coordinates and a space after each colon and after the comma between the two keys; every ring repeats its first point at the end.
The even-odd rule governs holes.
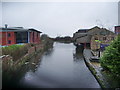
{"type": "Polygon", "coordinates": [[[120,36],[106,47],[100,62],[105,70],[120,75],[120,36]]]}

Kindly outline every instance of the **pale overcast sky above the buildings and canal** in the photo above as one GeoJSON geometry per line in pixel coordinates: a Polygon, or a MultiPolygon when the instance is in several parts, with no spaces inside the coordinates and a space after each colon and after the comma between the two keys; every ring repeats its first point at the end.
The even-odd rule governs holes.
{"type": "Polygon", "coordinates": [[[51,37],[72,36],[95,25],[114,30],[117,2],[2,2],[2,26],[35,28],[51,37]]]}

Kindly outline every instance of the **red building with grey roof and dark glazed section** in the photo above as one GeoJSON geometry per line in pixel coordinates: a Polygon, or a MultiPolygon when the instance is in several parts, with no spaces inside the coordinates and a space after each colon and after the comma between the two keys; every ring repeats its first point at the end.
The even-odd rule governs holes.
{"type": "Polygon", "coordinates": [[[23,27],[0,28],[0,45],[12,45],[18,43],[40,43],[40,31],[24,29],[23,27]]]}

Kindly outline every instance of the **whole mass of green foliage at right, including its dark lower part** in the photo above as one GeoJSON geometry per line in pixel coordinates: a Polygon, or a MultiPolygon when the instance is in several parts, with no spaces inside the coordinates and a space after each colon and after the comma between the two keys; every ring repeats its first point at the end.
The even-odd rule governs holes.
{"type": "Polygon", "coordinates": [[[110,46],[105,48],[103,56],[100,58],[103,67],[103,75],[106,77],[112,88],[120,85],[120,36],[118,36],[110,46]]]}

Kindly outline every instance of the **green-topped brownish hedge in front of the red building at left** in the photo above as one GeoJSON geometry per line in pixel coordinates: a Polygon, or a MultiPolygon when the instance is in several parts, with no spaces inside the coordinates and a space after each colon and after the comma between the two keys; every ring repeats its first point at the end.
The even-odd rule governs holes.
{"type": "Polygon", "coordinates": [[[10,45],[2,47],[2,55],[10,55],[16,61],[28,52],[27,45],[10,45]]]}

